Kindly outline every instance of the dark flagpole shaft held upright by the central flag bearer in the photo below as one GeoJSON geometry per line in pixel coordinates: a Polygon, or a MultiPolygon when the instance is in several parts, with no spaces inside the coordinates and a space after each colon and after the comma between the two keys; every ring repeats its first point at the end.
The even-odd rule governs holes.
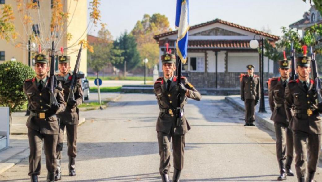
{"type": "MultiPolygon", "coordinates": [[[[181,83],[181,60],[178,56],[178,51],[177,51],[177,48],[176,48],[176,42],[175,42],[175,59],[176,59],[176,63],[178,65],[177,67],[177,76],[178,76],[178,79],[177,79],[177,86],[179,87],[180,83],[181,83]]],[[[176,114],[177,114],[177,123],[176,123],[176,126],[181,126],[181,119],[182,119],[182,116],[183,116],[183,108],[181,108],[181,94],[180,92],[178,92],[178,95],[177,95],[177,109],[176,109],[176,114]]]]}

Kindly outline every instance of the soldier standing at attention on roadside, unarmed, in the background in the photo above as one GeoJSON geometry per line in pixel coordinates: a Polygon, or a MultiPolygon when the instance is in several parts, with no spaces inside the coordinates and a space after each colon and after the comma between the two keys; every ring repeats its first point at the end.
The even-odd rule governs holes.
{"type": "Polygon", "coordinates": [[[242,77],[241,99],[245,102],[245,125],[255,125],[255,108],[260,99],[260,79],[254,75],[254,66],[247,65],[248,74],[242,77]]]}

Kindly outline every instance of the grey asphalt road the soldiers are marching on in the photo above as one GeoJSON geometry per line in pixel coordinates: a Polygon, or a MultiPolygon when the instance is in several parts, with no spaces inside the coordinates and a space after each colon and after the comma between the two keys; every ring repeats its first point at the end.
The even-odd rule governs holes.
{"type": "MultiPolygon", "coordinates": [[[[185,167],[180,181],[276,181],[279,169],[274,133],[262,127],[244,127],[243,113],[224,96],[189,100],[186,116],[192,129],[186,134],[185,167]]],[[[161,181],[156,139],[158,107],[152,94],[125,94],[104,110],[83,112],[79,127],[77,176],[68,176],[64,144],[62,181],[161,181]]],[[[47,171],[42,163],[40,181],[47,171]]],[[[294,169],[294,164],[292,165],[294,169]]],[[[171,168],[172,176],[173,167],[171,168]]],[[[322,181],[321,168],[316,181],[322,181]]],[[[0,181],[29,181],[28,159],[0,175],[0,181]]],[[[288,177],[286,181],[297,181],[288,177]]]]}

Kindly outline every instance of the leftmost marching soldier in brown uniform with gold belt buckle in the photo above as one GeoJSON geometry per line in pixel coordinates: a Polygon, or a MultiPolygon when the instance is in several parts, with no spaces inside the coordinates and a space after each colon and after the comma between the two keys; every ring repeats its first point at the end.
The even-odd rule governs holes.
{"type": "MultiPolygon", "coordinates": [[[[53,68],[52,68],[53,69],[53,68]]],[[[32,182],[38,182],[40,174],[42,143],[48,170],[47,182],[53,182],[56,171],[56,145],[59,134],[59,123],[56,114],[65,110],[62,91],[56,89],[57,102],[50,102],[48,56],[35,56],[36,77],[24,82],[24,93],[28,98],[30,116],[27,119],[30,146],[29,175],[32,182]],[[51,107],[50,105],[51,104],[51,107]]]]}

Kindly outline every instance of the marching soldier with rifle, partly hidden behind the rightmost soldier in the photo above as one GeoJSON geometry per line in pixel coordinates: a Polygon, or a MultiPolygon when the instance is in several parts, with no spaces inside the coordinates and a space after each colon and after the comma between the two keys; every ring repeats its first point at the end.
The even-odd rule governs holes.
{"type": "Polygon", "coordinates": [[[291,61],[285,57],[284,60],[279,61],[280,77],[272,78],[269,87],[269,103],[272,111],[271,120],[274,121],[276,134],[276,155],[279,162],[279,177],[277,180],[286,180],[287,176],[294,176],[291,171],[291,164],[293,160],[293,134],[292,130],[288,128],[289,120],[287,119],[284,108],[284,93],[285,87],[289,82],[291,61]],[[284,161],[286,159],[285,167],[284,161]],[[285,169],[286,168],[286,169],[285,169]]]}

